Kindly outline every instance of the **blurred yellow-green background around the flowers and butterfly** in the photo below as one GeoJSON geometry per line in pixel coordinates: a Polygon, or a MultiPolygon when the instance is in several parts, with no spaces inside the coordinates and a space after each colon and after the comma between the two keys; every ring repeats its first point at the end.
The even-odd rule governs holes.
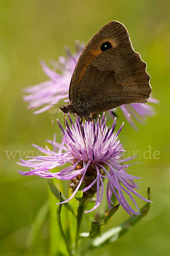
{"type": "MultiPolygon", "coordinates": [[[[27,104],[22,102],[22,88],[47,80],[41,70],[40,59],[46,63],[58,60],[60,55],[64,55],[63,46],[66,44],[74,52],[76,39],[87,43],[111,20],[119,20],[127,27],[133,47],[147,62],[153,96],[160,100],[160,104],[155,106],[157,115],[148,118],[147,125],[138,125],[139,132],[134,131],[126,122],[120,134],[127,151],[139,151],[138,159],[142,164],[131,166],[129,173],[142,177],[139,183],[141,195],[147,196],[147,187],[150,186],[153,204],[147,217],[138,226],[120,240],[95,250],[92,254],[168,254],[169,11],[170,2],[167,0],[0,1],[0,255],[54,256],[62,245],[55,220],[57,201],[49,193],[46,180],[17,174],[18,166],[15,162],[20,158],[18,151],[21,154],[26,151],[28,154],[28,151],[34,150],[31,143],[44,146],[45,139],[52,139],[54,132],[58,132],[57,125],[55,128],[51,126],[52,114],[45,112],[33,115],[27,111],[27,104]],[[148,146],[151,146],[152,159],[143,157],[148,146]],[[8,159],[6,151],[13,151],[14,157],[8,159]],[[153,158],[154,151],[160,151],[160,159],[153,158]],[[45,202],[48,198],[51,207],[49,213],[46,213],[48,206],[46,207],[45,202]],[[35,222],[37,214],[39,218],[35,222]],[[37,232],[41,221],[42,229],[37,232]],[[33,223],[36,225],[32,226],[33,223]]],[[[61,113],[58,116],[63,118],[61,113]]],[[[118,127],[123,121],[124,117],[119,111],[118,127]]],[[[60,141],[59,136],[58,142],[60,141]]],[[[64,184],[66,190],[68,185],[64,184]]],[[[137,202],[140,207],[144,204],[138,199],[137,202]]],[[[64,210],[63,216],[66,217],[64,210]]],[[[126,218],[128,215],[124,209],[119,209],[109,227],[126,218]]],[[[81,231],[84,230],[86,231],[85,223],[81,228],[81,231]]]]}

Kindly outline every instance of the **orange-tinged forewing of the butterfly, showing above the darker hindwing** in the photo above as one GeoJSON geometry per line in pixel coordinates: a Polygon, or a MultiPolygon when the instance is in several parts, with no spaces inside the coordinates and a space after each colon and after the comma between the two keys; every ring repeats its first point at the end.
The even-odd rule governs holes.
{"type": "Polygon", "coordinates": [[[75,67],[69,87],[69,99],[72,102],[78,100],[77,88],[80,81],[92,60],[103,52],[101,47],[105,42],[111,43],[112,47],[132,47],[127,29],[120,22],[111,21],[101,28],[84,48],[75,67]]]}

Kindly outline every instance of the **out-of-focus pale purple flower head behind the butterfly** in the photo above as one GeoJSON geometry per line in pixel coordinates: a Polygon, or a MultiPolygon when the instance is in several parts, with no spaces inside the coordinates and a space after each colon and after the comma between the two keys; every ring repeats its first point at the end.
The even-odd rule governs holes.
{"type": "MultiPolygon", "coordinates": [[[[69,48],[66,48],[67,57],[64,58],[63,56],[60,56],[58,62],[53,61],[53,69],[50,69],[42,62],[43,71],[50,80],[24,89],[25,93],[29,93],[28,95],[23,96],[23,100],[25,102],[29,102],[29,108],[50,104],[49,106],[45,106],[34,111],[35,114],[42,113],[49,108],[52,108],[53,106],[51,105],[58,104],[60,100],[64,100],[64,102],[69,101],[70,81],[78,58],[84,49],[84,44],[79,44],[79,42],[76,41],[75,49],[75,54],[71,54],[69,48]],[[56,72],[56,70],[60,73],[56,72]]],[[[158,103],[156,99],[151,97],[148,102],[158,103]]],[[[147,103],[124,104],[118,108],[121,108],[125,118],[135,129],[137,129],[137,126],[133,122],[132,117],[141,124],[144,124],[147,116],[153,116],[155,114],[153,106],[147,103]]],[[[111,110],[110,113],[115,117],[115,115],[113,115],[113,111],[115,111],[115,109],[111,110]]]]}

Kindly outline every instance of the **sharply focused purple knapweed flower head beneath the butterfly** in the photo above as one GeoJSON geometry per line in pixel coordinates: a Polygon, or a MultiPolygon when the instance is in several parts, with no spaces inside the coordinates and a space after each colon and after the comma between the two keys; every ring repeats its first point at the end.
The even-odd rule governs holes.
{"type": "Polygon", "coordinates": [[[134,190],[136,188],[134,180],[140,179],[140,177],[127,174],[128,165],[124,163],[127,159],[122,157],[124,147],[120,140],[118,140],[118,135],[123,125],[116,132],[116,119],[110,128],[107,127],[107,120],[103,115],[101,128],[99,121],[95,122],[94,120],[94,122],[90,122],[87,120],[82,124],[81,132],[80,119],[76,118],[75,124],[73,124],[70,116],[69,120],[71,126],[69,126],[66,120],[65,130],[58,122],[63,134],[61,144],[58,144],[55,140],[48,140],[47,142],[53,145],[53,150],[50,150],[47,146],[42,148],[34,145],[35,148],[45,155],[29,157],[29,160],[21,160],[19,164],[30,167],[31,170],[29,172],[18,172],[22,175],[37,175],[44,178],[71,180],[72,196],[62,203],[73,198],[78,189],[82,189],[85,198],[92,197],[94,192],[96,192],[95,206],[86,212],[91,212],[100,205],[104,193],[104,179],[107,179],[107,202],[109,208],[113,207],[112,195],[114,194],[119,204],[131,216],[132,214],[138,215],[138,206],[132,194],[144,201],[148,200],[134,190]],[[86,143],[86,148],[84,142],[86,143]],[[63,166],[66,163],[69,163],[70,166],[63,168],[60,172],[52,172],[52,169],[63,166]],[[125,196],[131,199],[137,211],[128,204],[125,196]]]}

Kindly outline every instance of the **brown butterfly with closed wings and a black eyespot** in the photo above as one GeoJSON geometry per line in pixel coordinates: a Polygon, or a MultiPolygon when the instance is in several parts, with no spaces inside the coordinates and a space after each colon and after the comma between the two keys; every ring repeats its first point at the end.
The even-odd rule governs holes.
{"type": "Polygon", "coordinates": [[[90,119],[122,104],[145,103],[150,96],[146,63],[134,51],[125,26],[111,21],[89,41],[78,59],[64,113],[90,119]]]}

